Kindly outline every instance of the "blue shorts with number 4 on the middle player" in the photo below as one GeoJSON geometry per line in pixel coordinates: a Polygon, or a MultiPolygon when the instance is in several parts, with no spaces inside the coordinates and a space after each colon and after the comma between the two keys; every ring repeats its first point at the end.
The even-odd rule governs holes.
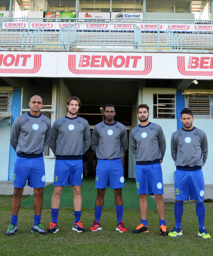
{"type": "Polygon", "coordinates": [[[124,188],[124,169],[121,158],[103,160],[98,159],[96,167],[96,189],[124,188]]]}

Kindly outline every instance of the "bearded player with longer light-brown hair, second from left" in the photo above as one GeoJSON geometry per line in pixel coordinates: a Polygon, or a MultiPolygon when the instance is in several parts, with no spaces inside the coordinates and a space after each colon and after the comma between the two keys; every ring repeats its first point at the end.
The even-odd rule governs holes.
{"type": "Polygon", "coordinates": [[[74,216],[72,230],[85,232],[80,221],[82,194],[81,185],[83,178],[82,155],[90,146],[89,123],[84,118],[77,116],[81,102],[78,97],[71,97],[67,101],[67,116],[54,121],[51,132],[50,148],[56,156],[54,170],[54,191],[51,200],[52,222],[48,232],[58,232],[58,210],[60,196],[67,183],[74,192],[74,216]]]}

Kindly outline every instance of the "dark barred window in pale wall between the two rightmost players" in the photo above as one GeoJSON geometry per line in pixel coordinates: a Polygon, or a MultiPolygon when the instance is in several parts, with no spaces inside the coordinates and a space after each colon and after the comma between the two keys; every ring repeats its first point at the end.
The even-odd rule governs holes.
{"type": "Polygon", "coordinates": [[[176,118],[176,94],[153,94],[153,118],[176,118]]]}

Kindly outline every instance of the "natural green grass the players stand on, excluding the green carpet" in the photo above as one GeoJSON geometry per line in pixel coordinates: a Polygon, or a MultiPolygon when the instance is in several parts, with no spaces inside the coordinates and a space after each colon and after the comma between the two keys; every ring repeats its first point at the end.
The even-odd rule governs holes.
{"type": "MultiPolygon", "coordinates": [[[[26,198],[23,198],[26,199],[26,198]]],[[[22,199],[22,200],[23,200],[22,199]]],[[[57,234],[36,235],[30,232],[33,224],[32,207],[21,207],[18,215],[18,231],[13,237],[5,236],[10,224],[11,196],[0,196],[0,255],[213,255],[213,241],[197,236],[198,221],[195,203],[184,204],[182,218],[183,236],[171,238],[159,235],[159,216],[156,210],[148,210],[147,219],[149,233],[132,234],[131,231],[140,224],[138,210],[124,210],[124,224],[128,233],[115,231],[117,218],[115,209],[103,209],[101,216],[102,230],[88,232],[93,223],[94,209],[82,209],[82,218],[86,233],[72,231],[74,221],[73,208],[59,210],[57,234]]],[[[205,225],[213,236],[213,203],[206,203],[205,225]]],[[[42,224],[48,229],[51,222],[51,209],[42,210],[42,224]]],[[[168,230],[173,229],[174,204],[166,204],[166,224],[168,230]]]]}

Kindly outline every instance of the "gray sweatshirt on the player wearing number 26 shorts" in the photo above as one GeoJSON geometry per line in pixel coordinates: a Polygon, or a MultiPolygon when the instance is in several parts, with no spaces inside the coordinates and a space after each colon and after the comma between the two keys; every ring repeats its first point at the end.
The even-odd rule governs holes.
{"type": "Polygon", "coordinates": [[[172,135],[171,154],[178,170],[200,170],[208,155],[205,132],[196,127],[191,130],[180,128],[172,135]]]}

